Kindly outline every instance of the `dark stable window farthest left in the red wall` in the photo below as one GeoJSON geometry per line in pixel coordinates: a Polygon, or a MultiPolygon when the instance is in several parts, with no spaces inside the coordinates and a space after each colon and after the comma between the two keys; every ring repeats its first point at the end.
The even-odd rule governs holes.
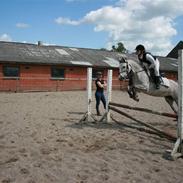
{"type": "Polygon", "coordinates": [[[19,77],[20,68],[18,66],[3,66],[3,76],[10,78],[19,77]]]}

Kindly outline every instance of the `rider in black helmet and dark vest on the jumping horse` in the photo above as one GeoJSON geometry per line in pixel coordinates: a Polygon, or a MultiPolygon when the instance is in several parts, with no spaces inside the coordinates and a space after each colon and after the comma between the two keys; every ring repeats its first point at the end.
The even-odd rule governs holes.
{"type": "Polygon", "coordinates": [[[143,45],[139,44],[136,46],[135,48],[136,50],[136,54],[138,56],[139,61],[143,64],[143,63],[147,63],[148,64],[148,68],[150,73],[152,73],[151,77],[154,78],[154,83],[155,83],[155,87],[156,89],[160,88],[160,73],[159,73],[159,60],[153,56],[151,53],[146,52],[146,49],[143,45]],[[152,72],[151,72],[152,71],[152,72]]]}

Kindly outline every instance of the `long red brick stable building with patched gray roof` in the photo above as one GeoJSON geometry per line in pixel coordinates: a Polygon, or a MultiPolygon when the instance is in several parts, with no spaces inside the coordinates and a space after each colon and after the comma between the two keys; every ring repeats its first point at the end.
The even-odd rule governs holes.
{"type": "MultiPolygon", "coordinates": [[[[118,80],[120,56],[97,49],[0,42],[0,91],[84,90],[87,67],[93,68],[93,78],[97,71],[106,78],[107,69],[113,69],[113,89],[124,89],[127,83],[118,80]]],[[[177,60],[159,60],[165,75],[176,79],[177,60]]]]}

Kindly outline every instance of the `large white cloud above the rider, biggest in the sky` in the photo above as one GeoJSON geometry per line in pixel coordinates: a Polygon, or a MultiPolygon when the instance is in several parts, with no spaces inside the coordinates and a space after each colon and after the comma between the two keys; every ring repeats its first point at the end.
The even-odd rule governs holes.
{"type": "Polygon", "coordinates": [[[59,17],[58,24],[93,24],[94,31],[108,33],[107,47],[123,42],[128,50],[144,44],[155,54],[166,55],[171,49],[171,38],[177,34],[175,18],[183,15],[182,0],[119,0],[88,12],[80,20],[59,17]]]}

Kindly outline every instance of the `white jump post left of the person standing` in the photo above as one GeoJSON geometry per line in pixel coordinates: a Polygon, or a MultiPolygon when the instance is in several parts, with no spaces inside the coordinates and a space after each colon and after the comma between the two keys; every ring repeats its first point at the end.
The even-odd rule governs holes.
{"type": "Polygon", "coordinates": [[[87,112],[81,118],[79,122],[91,122],[97,121],[91,112],[91,102],[92,102],[92,68],[87,68],[87,112]]]}

